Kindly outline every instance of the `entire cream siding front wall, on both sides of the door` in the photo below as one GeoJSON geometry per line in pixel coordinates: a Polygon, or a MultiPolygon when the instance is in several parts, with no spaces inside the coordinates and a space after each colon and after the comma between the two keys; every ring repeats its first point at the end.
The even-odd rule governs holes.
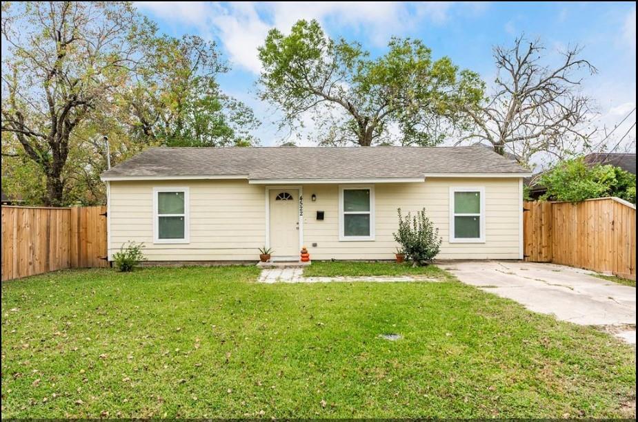
{"type": "MultiPolygon", "coordinates": [[[[519,178],[428,178],[423,183],[375,185],[375,240],[339,242],[337,184],[303,185],[303,244],[314,260],[391,260],[397,244],[397,208],[403,213],[425,207],[443,238],[439,259],[519,259],[521,191],[519,178]],[[449,189],[484,187],[485,243],[449,240],[449,189]],[[317,200],[310,198],[315,194],[317,200]],[[324,211],[324,220],[316,220],[324,211]],[[312,244],[317,243],[316,247],[312,244]]],[[[128,240],[144,242],[150,261],[258,259],[266,242],[263,185],[246,180],[110,182],[109,256],[128,240]],[[190,243],[153,244],[154,187],[188,187],[190,243]]],[[[276,251],[275,251],[276,252],[276,251]]]]}

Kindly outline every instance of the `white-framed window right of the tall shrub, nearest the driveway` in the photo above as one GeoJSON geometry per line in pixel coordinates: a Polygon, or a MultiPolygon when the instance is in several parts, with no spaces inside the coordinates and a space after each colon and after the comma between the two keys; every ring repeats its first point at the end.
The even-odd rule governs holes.
{"type": "Polygon", "coordinates": [[[485,189],[450,187],[450,243],[485,242],[485,189]]]}

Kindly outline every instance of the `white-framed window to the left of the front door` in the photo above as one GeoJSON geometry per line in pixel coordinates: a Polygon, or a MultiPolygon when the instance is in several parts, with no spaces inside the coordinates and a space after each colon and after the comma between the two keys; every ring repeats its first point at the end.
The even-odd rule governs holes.
{"type": "Polygon", "coordinates": [[[188,243],[188,187],[153,189],[153,242],[188,243]]]}

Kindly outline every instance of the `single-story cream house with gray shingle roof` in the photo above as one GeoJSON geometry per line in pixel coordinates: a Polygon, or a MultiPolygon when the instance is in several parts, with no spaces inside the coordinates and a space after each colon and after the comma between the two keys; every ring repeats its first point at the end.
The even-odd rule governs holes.
{"type": "Polygon", "coordinates": [[[152,148],[101,174],[108,255],[148,260],[389,260],[397,208],[425,208],[442,259],[523,257],[528,171],[484,147],[152,148]]]}

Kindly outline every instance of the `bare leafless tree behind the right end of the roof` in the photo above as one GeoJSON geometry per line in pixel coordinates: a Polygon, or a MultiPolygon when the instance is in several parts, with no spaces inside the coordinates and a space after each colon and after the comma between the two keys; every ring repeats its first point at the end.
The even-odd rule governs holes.
{"type": "Polygon", "coordinates": [[[541,63],[540,41],[516,39],[512,48],[497,47],[497,78],[490,96],[467,109],[474,123],[463,140],[486,142],[501,154],[528,164],[539,152],[562,159],[588,147],[590,98],[579,92],[582,77],[596,68],[581,59],[575,46],[561,53],[557,65],[541,63]]]}

